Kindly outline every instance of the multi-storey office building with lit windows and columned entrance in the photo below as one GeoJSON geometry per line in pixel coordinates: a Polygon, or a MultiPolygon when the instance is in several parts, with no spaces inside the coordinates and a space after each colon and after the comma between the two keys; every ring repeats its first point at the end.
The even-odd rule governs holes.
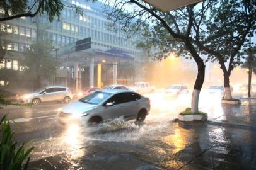
{"type": "MultiPolygon", "coordinates": [[[[58,74],[57,77],[55,77],[55,84],[59,82],[62,85],[70,85],[69,80],[74,79],[74,81],[76,81],[76,79],[80,77],[81,82],[79,81],[79,83],[84,84],[83,86],[102,86],[102,82],[95,82],[95,79],[98,80],[98,77],[95,78],[95,75],[101,76],[101,74],[89,74],[89,76],[86,76],[87,72],[98,71],[98,64],[102,66],[105,65],[104,68],[102,68],[103,71],[113,74],[112,83],[116,84],[118,74],[115,71],[117,71],[119,64],[126,63],[136,65],[144,61],[145,52],[136,47],[139,35],[127,39],[124,33],[115,33],[108,30],[107,23],[109,21],[107,17],[102,14],[104,4],[79,0],[64,0],[62,3],[66,4],[66,6],[79,6],[83,9],[84,14],[81,16],[71,8],[65,7],[61,11],[59,21],[55,18],[52,23],[49,23],[47,16],[39,17],[40,22],[47,26],[47,33],[44,35],[43,40],[52,42],[54,48],[57,49],[57,51],[55,51],[56,54],[55,52],[52,53],[53,57],[57,57],[57,59],[62,61],[61,70],[57,71],[58,74]],[[72,52],[70,49],[69,54],[61,53],[63,48],[69,48],[69,45],[74,42],[88,37],[91,37],[90,52],[84,50],[76,53],[72,52]],[[117,54],[112,54],[112,52],[116,52],[117,54]],[[71,58],[73,57],[72,60],[66,59],[68,55],[70,55],[71,58]],[[129,55],[129,59],[124,57],[127,55],[129,55]],[[81,71],[84,72],[84,76],[82,75],[83,73],[79,75],[81,71]],[[78,77],[76,77],[77,74],[78,77]],[[82,76],[85,77],[84,81],[86,82],[82,81],[82,76]],[[86,77],[89,77],[89,80],[86,77]],[[94,79],[92,79],[92,77],[94,77],[94,79]]],[[[3,11],[0,11],[0,13],[3,14],[3,11]]],[[[14,69],[17,71],[23,70],[24,65],[21,65],[23,52],[26,48],[29,48],[37,38],[37,30],[33,20],[34,18],[18,18],[1,23],[1,28],[8,26],[8,29],[4,30],[6,31],[4,38],[8,40],[9,43],[5,47],[8,50],[8,54],[1,62],[0,68],[14,69]]],[[[1,38],[1,40],[2,39],[3,38],[1,38]]],[[[108,79],[107,77],[106,79],[108,79]]],[[[0,82],[4,84],[1,77],[0,82]]],[[[72,83],[77,84],[78,82],[72,83]]],[[[111,82],[107,83],[106,81],[103,86],[110,83],[111,82]]],[[[81,88],[82,85],[79,87],[81,88]]]]}

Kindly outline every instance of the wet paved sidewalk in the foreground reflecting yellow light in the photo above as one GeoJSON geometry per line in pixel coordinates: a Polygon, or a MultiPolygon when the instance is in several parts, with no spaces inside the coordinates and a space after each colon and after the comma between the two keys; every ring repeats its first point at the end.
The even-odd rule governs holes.
{"type": "Polygon", "coordinates": [[[223,105],[223,110],[225,118],[194,125],[168,122],[139,140],[93,141],[71,152],[31,162],[30,167],[256,169],[256,99],[243,99],[240,106],[223,105]]]}

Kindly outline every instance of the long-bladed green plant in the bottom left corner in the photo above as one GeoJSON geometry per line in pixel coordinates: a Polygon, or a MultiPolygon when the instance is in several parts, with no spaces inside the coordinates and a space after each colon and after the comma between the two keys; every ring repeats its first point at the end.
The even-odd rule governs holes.
{"type": "Polygon", "coordinates": [[[7,120],[6,115],[2,118],[0,126],[0,132],[2,133],[0,142],[0,169],[28,169],[30,153],[35,147],[26,149],[30,142],[18,147],[18,144],[13,141],[14,132],[11,131],[11,123],[7,120]],[[23,162],[25,162],[24,165],[23,162]]]}

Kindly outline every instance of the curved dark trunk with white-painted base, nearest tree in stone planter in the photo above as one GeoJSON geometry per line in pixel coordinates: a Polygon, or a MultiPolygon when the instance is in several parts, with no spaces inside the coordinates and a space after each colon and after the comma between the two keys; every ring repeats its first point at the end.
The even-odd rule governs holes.
{"type": "Polygon", "coordinates": [[[195,51],[195,48],[189,41],[185,41],[185,46],[190,51],[193,59],[197,63],[197,79],[195,80],[194,90],[192,93],[192,100],[191,100],[191,111],[198,112],[198,103],[199,103],[199,94],[202,88],[202,84],[204,83],[204,75],[205,75],[205,68],[204,61],[195,51]]]}

